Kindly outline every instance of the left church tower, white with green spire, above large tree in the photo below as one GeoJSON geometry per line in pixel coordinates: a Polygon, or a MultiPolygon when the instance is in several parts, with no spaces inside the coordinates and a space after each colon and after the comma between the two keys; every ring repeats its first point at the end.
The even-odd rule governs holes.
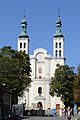
{"type": "Polygon", "coordinates": [[[18,37],[18,51],[25,51],[26,54],[29,54],[29,37],[26,31],[27,21],[25,15],[21,21],[21,34],[18,37]]]}

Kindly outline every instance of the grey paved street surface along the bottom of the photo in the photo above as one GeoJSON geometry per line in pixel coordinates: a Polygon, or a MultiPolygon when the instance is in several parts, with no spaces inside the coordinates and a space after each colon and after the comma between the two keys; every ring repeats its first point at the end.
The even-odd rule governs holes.
{"type": "MultiPolygon", "coordinates": [[[[41,116],[30,116],[23,120],[67,120],[67,117],[41,117],[41,116]]],[[[71,117],[71,120],[76,120],[76,117],[71,117]]]]}

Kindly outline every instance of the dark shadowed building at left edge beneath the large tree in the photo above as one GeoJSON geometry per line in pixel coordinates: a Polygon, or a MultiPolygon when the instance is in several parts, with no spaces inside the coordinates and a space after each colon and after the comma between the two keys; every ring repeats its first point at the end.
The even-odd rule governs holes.
{"type": "Polygon", "coordinates": [[[5,86],[0,84],[0,120],[2,116],[10,112],[11,107],[11,93],[10,90],[5,86]]]}

